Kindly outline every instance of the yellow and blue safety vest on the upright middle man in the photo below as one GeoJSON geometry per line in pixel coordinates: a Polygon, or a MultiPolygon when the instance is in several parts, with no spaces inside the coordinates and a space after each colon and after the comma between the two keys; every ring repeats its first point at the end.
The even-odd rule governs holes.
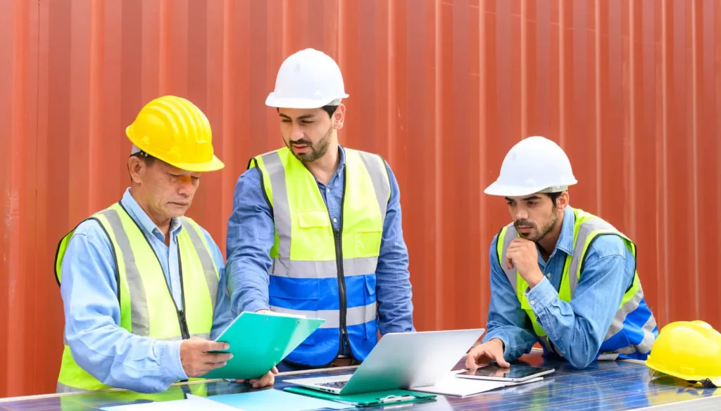
{"type": "Polygon", "coordinates": [[[291,363],[327,365],[344,340],[363,361],[378,342],[376,265],[391,186],[379,155],[344,150],[338,230],[316,179],[288,148],[249,161],[275,222],[270,310],[325,320],[286,357],[291,363]]]}

